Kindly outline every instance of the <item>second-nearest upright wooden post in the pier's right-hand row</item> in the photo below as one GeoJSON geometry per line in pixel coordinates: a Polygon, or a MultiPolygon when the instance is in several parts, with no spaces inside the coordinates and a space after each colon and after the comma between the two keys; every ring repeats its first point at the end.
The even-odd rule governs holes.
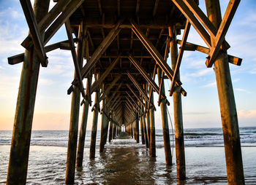
{"type": "MultiPolygon", "coordinates": [[[[172,68],[173,70],[175,70],[176,61],[178,58],[175,25],[169,27],[169,36],[172,38],[170,42],[170,58],[172,60],[172,68]]],[[[177,79],[179,79],[179,74],[177,76],[177,79]]],[[[185,180],[186,165],[185,165],[185,151],[184,151],[182,105],[181,105],[181,87],[175,87],[175,90],[173,92],[173,111],[174,111],[177,178],[179,180],[185,180]]]]}

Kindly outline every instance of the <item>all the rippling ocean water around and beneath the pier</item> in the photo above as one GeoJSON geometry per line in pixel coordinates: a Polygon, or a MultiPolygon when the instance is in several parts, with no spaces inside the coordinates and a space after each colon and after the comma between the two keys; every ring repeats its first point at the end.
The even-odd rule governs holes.
{"type": "MultiPolygon", "coordinates": [[[[115,139],[96,158],[89,160],[91,132],[86,133],[83,168],[75,184],[227,184],[221,128],[185,129],[187,181],[176,180],[173,165],[165,165],[162,130],[156,130],[157,157],[151,159],[145,145],[134,139],[115,139]]],[[[172,130],[170,130],[172,133],[172,130]]],[[[241,146],[246,184],[256,184],[256,127],[241,127],[241,146]]],[[[0,131],[0,184],[6,183],[12,131],[0,131]]],[[[64,184],[68,131],[33,131],[27,184],[64,184]]]]}

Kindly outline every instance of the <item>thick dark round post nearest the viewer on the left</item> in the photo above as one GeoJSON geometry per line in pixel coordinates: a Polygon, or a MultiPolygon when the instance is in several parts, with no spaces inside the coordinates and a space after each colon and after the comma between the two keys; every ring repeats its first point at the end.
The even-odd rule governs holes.
{"type": "MultiPolygon", "coordinates": [[[[34,15],[37,23],[47,14],[49,3],[50,0],[34,1],[34,15]]],[[[42,35],[42,40],[43,38],[44,35],[42,35]]],[[[25,50],[12,131],[7,184],[26,184],[39,66],[40,62],[37,52],[33,48],[31,50],[25,50]]]]}

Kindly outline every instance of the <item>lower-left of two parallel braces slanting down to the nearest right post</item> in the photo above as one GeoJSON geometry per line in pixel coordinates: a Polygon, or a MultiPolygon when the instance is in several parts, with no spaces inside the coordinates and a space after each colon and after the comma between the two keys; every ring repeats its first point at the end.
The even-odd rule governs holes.
{"type": "Polygon", "coordinates": [[[189,20],[189,22],[193,25],[197,33],[201,36],[204,42],[206,42],[208,47],[211,47],[211,37],[203,28],[203,25],[197,20],[195,15],[191,12],[189,7],[182,0],[172,0],[173,3],[178,7],[178,9],[182,12],[182,14],[189,20]]]}

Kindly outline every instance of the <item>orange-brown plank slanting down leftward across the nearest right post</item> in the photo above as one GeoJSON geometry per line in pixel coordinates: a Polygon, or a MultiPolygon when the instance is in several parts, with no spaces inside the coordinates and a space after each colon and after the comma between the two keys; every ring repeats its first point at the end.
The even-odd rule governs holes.
{"type": "Polygon", "coordinates": [[[214,38],[214,46],[211,47],[211,52],[206,60],[206,66],[211,68],[214,63],[214,60],[217,58],[219,48],[222,45],[222,42],[225,39],[225,35],[227,34],[227,29],[230,27],[230,23],[233,20],[233,17],[236,13],[236,9],[240,0],[230,0],[229,4],[227,5],[227,9],[225,15],[223,16],[222,22],[219,25],[219,29],[217,31],[217,35],[214,38]]]}

